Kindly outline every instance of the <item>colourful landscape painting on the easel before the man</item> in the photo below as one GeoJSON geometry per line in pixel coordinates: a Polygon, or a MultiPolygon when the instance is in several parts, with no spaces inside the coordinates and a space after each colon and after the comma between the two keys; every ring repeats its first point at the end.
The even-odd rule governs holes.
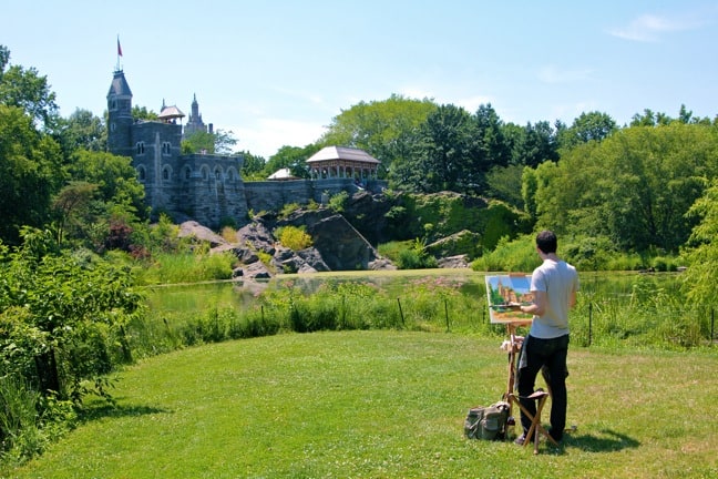
{"type": "Polygon", "coordinates": [[[533,302],[531,275],[486,275],[486,298],[491,323],[525,325],[533,318],[520,309],[533,302]]]}

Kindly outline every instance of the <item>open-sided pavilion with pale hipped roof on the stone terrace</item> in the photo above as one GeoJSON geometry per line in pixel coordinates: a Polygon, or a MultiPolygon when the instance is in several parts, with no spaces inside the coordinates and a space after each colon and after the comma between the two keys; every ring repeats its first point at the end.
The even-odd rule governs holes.
{"type": "Polygon", "coordinates": [[[326,146],[307,160],[312,180],[376,180],[380,163],[366,151],[347,146],[326,146]]]}

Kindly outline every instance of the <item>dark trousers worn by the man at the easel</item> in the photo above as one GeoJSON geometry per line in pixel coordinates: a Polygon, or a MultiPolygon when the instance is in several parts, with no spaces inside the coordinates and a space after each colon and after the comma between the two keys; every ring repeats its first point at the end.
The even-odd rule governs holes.
{"type": "MultiPolygon", "coordinates": [[[[551,437],[561,440],[566,427],[566,355],[568,354],[568,335],[552,339],[526,336],[519,359],[519,400],[532,416],[536,414],[536,402],[526,399],[534,393],[536,375],[545,366],[551,391],[551,437]]],[[[524,434],[531,428],[531,419],[521,412],[521,426],[524,434]]],[[[531,438],[530,438],[531,439],[531,438]]]]}

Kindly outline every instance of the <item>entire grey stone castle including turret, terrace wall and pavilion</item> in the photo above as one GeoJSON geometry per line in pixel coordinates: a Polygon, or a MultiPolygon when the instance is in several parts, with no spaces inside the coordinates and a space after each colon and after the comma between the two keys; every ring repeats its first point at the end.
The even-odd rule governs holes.
{"type": "Polygon", "coordinates": [[[114,71],[107,92],[107,149],[132,159],[145,188],[145,203],[155,216],[164,212],[213,228],[244,225],[249,211],[278,211],[286,203],[309,200],[319,203],[340,191],[351,194],[358,184],[370,190],[386,185],[377,180],[376,159],[361,150],[336,146],[308,159],[310,180],[244,182],[242,155],[182,153],[183,134],[213,132],[213,125],[202,121],[196,95],[184,131],[184,114],[164,102],[158,120],[135,121],[132,91],[121,69],[114,71]]]}

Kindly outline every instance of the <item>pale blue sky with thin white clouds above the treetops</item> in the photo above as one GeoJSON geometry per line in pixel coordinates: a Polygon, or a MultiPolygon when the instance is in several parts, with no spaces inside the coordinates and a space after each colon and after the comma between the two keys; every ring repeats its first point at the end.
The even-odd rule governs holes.
{"type": "Polygon", "coordinates": [[[60,113],[102,115],[120,59],[133,103],[185,114],[268,159],[392,93],[504,122],[645,109],[718,114],[718,2],[0,0],[12,64],[47,75],[60,113]]]}

